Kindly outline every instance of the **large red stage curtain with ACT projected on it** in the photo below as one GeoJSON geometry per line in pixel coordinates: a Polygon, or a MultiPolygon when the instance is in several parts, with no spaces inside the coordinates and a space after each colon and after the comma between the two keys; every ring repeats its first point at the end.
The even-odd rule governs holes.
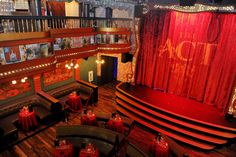
{"type": "Polygon", "coordinates": [[[136,83],[225,109],[236,76],[236,15],[151,11],[136,83]]]}

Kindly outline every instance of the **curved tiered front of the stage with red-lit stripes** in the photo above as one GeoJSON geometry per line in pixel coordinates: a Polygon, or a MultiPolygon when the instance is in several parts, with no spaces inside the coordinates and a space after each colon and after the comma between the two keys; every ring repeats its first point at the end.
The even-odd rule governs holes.
{"type": "MultiPolygon", "coordinates": [[[[236,137],[236,129],[218,126],[168,112],[116,87],[117,110],[136,122],[185,144],[212,150],[236,137]]],[[[129,88],[129,87],[128,87],[129,88]]]]}

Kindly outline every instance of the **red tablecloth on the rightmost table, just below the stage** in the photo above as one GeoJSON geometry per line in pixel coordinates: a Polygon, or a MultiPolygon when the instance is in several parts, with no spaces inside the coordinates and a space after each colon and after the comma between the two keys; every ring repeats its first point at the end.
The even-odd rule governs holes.
{"type": "Polygon", "coordinates": [[[168,157],[169,154],[168,143],[163,138],[161,138],[159,142],[156,139],[154,139],[150,146],[150,152],[155,157],[168,157]]]}

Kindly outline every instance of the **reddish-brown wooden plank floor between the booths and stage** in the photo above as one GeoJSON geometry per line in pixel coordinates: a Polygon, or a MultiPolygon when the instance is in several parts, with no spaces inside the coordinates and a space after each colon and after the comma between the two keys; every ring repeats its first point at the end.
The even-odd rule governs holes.
{"type": "MultiPolygon", "coordinates": [[[[99,100],[94,107],[94,112],[110,113],[116,110],[115,105],[115,85],[117,83],[109,83],[107,85],[99,87],[99,100]]],[[[50,157],[54,149],[55,139],[55,127],[61,124],[80,124],[80,115],[77,113],[70,114],[68,123],[59,122],[54,126],[24,140],[23,142],[9,148],[2,152],[0,157],[50,157]]],[[[144,152],[148,152],[149,143],[155,137],[155,134],[150,130],[146,130],[141,126],[135,126],[130,133],[128,139],[137,147],[141,148],[144,152]]],[[[223,148],[218,148],[210,152],[202,152],[181,143],[169,139],[169,146],[174,154],[182,154],[187,152],[190,156],[196,157],[235,157],[236,156],[236,144],[231,144],[223,148]]],[[[174,156],[173,154],[170,156],[174,156]]]]}

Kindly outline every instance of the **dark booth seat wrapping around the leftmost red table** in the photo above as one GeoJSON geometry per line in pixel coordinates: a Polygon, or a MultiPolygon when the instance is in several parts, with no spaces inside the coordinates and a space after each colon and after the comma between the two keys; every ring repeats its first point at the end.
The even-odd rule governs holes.
{"type": "MultiPolygon", "coordinates": [[[[58,101],[59,102],[59,101],[58,101]]],[[[53,103],[45,97],[34,95],[4,104],[0,108],[0,143],[4,140],[16,140],[18,138],[19,111],[24,106],[31,105],[40,122],[45,122],[54,114],[61,113],[61,104],[53,103]]],[[[6,141],[5,141],[6,142],[6,141]]]]}

